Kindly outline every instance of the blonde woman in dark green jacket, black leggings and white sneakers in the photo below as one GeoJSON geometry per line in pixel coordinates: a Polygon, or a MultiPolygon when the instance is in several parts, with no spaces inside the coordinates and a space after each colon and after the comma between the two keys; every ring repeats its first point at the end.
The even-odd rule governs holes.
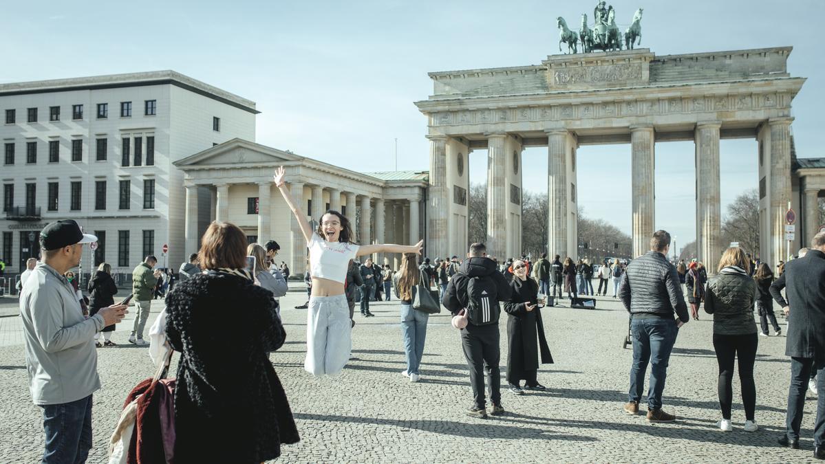
{"type": "Polygon", "coordinates": [[[719,408],[722,420],[716,424],[726,432],[733,430],[730,422],[733,401],[733,362],[738,359],[739,381],[742,384],[742,405],[745,406],[745,431],[755,432],[757,386],[753,382],[753,363],[757,359],[757,323],[753,320],[753,303],[757,284],[749,276],[751,262],[742,248],[728,248],[719,260],[719,274],[711,279],[705,291],[705,312],[714,316],[714,349],[719,363],[719,408]]]}

